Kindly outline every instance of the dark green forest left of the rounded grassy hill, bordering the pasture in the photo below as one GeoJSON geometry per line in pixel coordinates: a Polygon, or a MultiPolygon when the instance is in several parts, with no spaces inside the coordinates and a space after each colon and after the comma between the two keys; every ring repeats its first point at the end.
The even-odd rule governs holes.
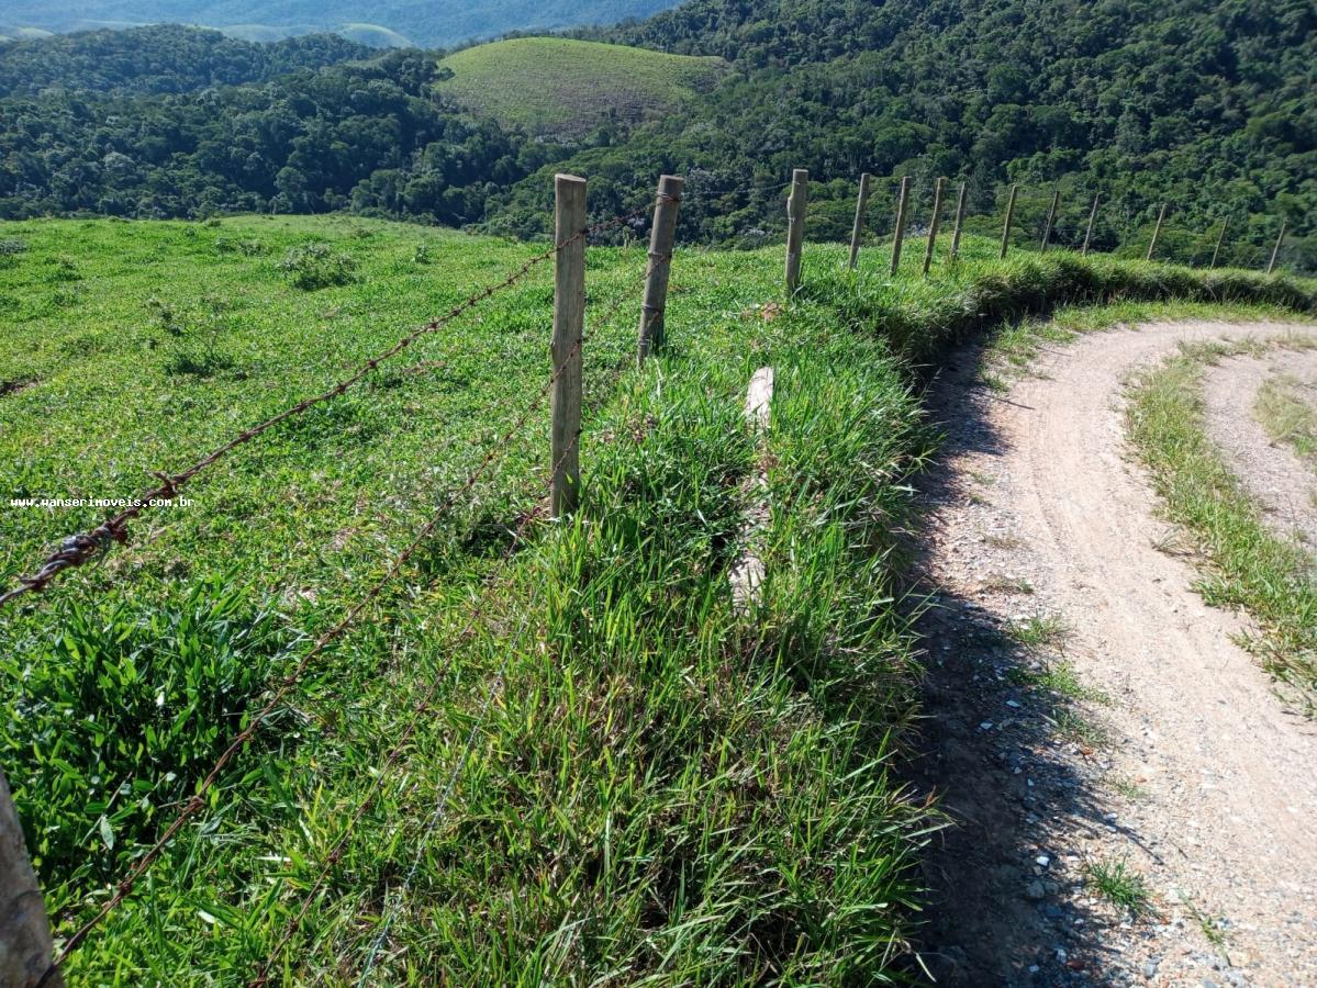
{"type": "Polygon", "coordinates": [[[353,209],[475,222],[490,189],[562,151],[429,95],[435,59],[398,51],[261,86],[5,101],[0,217],[353,209]]]}

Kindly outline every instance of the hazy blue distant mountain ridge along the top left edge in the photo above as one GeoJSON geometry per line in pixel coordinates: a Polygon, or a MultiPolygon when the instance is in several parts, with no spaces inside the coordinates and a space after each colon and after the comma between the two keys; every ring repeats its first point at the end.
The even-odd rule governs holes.
{"type": "Polygon", "coordinates": [[[192,24],[233,29],[252,41],[336,32],[377,47],[450,47],[507,32],[616,24],[672,5],[673,0],[14,0],[0,12],[0,34],[12,37],[17,28],[192,24]]]}

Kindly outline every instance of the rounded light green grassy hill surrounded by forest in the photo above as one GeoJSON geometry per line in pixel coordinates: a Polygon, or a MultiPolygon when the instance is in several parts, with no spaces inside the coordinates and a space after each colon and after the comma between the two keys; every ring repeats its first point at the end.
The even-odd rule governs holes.
{"type": "Polygon", "coordinates": [[[714,84],[720,58],[569,38],[512,38],[457,51],[441,66],[439,92],[531,134],[581,137],[608,121],[636,122],[676,111],[714,84]]]}

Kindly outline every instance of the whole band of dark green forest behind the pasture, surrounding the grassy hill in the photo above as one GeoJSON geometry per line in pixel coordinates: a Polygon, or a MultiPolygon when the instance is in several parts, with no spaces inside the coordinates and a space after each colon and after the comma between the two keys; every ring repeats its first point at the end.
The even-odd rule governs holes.
{"type": "Polygon", "coordinates": [[[1060,188],[1062,242],[1101,192],[1105,249],[1163,201],[1172,242],[1229,218],[1243,260],[1284,218],[1285,263],[1317,270],[1310,0],[689,0],[578,34],[731,71],[680,114],[570,145],[445,105],[419,53],[195,95],[11,97],[0,216],[348,208],[537,235],[553,170],[589,175],[601,213],[673,171],[691,176],[685,237],[751,246],[776,235],[781,184],[806,167],[811,235],[844,235],[861,171],[911,175],[921,209],[946,175],[969,183],[972,212],[1010,182],[1026,213],[1060,188]]]}

